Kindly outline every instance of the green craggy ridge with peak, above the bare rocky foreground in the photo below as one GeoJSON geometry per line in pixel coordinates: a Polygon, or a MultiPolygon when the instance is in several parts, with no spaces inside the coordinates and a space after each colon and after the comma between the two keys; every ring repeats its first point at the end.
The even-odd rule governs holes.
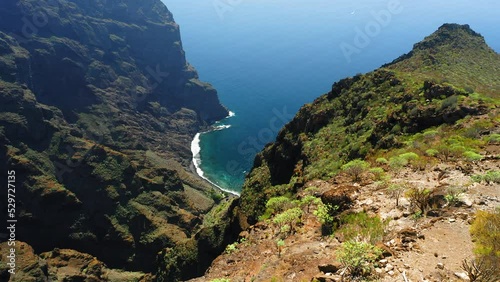
{"type": "MultiPolygon", "coordinates": [[[[394,62],[336,82],[257,155],[241,196],[244,216],[254,223],[270,197],[332,179],[350,160],[406,148],[426,129],[488,112],[493,120],[499,74],[500,55],[481,35],[468,25],[445,24],[394,62]]],[[[425,155],[436,146],[418,142],[425,146],[407,149],[425,155]]]]}

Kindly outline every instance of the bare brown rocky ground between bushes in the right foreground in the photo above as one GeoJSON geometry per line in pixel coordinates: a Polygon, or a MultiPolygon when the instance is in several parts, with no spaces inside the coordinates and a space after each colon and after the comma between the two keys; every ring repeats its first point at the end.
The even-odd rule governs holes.
{"type": "MultiPolygon", "coordinates": [[[[391,182],[406,181],[434,191],[437,202],[420,218],[411,211],[408,199],[401,196],[396,207],[395,197],[374,181],[353,184],[337,177],[306,187],[315,186],[324,193],[349,184],[352,210],[390,219],[379,243],[384,258],[374,265],[374,281],[468,281],[461,264],[473,257],[469,227],[474,214],[500,207],[500,185],[474,183],[470,176],[498,169],[498,152],[499,146],[489,146],[479,163],[441,163],[425,171],[408,168],[392,174],[391,182]],[[455,206],[439,202],[450,186],[463,188],[455,206]]],[[[335,257],[341,238],[322,236],[313,209],[304,209],[302,225],[284,240],[281,250],[272,224],[259,222],[243,231],[241,243],[219,256],[204,277],[190,281],[341,281],[343,267],[335,257]]]]}

